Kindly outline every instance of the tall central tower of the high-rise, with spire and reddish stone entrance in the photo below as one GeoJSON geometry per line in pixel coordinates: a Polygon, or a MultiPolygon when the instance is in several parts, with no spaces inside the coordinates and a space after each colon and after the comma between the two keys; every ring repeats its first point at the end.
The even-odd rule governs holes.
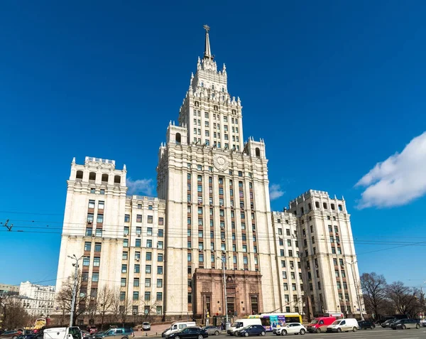
{"type": "Polygon", "coordinates": [[[244,144],[241,101],[229,95],[204,29],[204,57],[158,154],[167,319],[224,315],[225,303],[238,316],[280,307],[265,144],[244,144]]]}

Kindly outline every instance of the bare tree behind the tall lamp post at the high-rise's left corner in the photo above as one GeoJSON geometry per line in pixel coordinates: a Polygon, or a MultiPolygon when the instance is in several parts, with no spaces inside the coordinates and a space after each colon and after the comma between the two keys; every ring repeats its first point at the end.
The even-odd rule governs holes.
{"type": "MultiPolygon", "coordinates": [[[[74,321],[73,325],[77,321],[77,318],[80,317],[87,310],[87,287],[82,286],[81,274],[79,272],[77,276],[77,292],[75,296],[75,307],[74,307],[74,321]]],[[[58,292],[56,296],[56,302],[58,308],[62,313],[71,313],[71,305],[72,305],[72,288],[74,285],[74,277],[70,276],[68,279],[64,281],[62,284],[62,288],[58,292]]]]}

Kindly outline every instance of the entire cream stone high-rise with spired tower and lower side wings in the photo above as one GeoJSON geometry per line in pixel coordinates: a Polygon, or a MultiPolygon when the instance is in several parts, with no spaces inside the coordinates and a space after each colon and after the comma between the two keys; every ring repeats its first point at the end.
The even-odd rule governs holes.
{"type": "Polygon", "coordinates": [[[108,285],[134,315],[205,321],[225,303],[232,316],[359,314],[344,200],[310,190],[271,212],[265,143],[244,142],[241,100],[204,28],[204,57],[158,152],[158,198],[126,195],[126,167],[114,161],[72,162],[57,293],[75,254],[84,257],[82,300],[108,285]]]}

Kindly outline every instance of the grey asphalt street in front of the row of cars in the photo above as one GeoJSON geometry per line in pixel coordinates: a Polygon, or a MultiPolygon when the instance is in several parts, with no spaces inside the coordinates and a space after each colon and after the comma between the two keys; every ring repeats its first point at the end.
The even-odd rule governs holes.
{"type": "MultiPolygon", "coordinates": [[[[135,333],[136,337],[141,337],[142,333],[135,333]]],[[[161,338],[161,335],[153,336],[149,335],[151,338],[161,338]]],[[[298,335],[300,338],[302,335],[298,335]]],[[[277,337],[278,335],[274,335],[272,332],[266,332],[266,337],[277,337]]],[[[348,332],[348,333],[306,333],[305,337],[312,337],[311,339],[426,339],[426,328],[421,327],[420,329],[413,330],[392,330],[391,328],[381,328],[376,327],[374,330],[357,330],[356,332],[348,332]]],[[[209,335],[209,338],[214,339],[224,339],[224,338],[235,338],[230,335],[221,334],[221,335],[209,335]]],[[[240,338],[240,337],[239,337],[240,338]]]]}

